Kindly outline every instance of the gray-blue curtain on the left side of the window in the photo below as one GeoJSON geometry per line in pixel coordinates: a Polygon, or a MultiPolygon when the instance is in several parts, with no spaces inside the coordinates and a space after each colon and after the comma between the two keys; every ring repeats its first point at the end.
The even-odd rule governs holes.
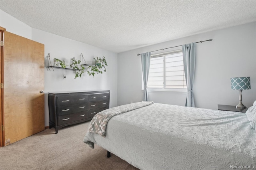
{"type": "Polygon", "coordinates": [[[150,55],[151,52],[142,53],[141,56],[141,65],[142,65],[142,75],[143,75],[143,83],[144,83],[144,95],[143,100],[148,101],[148,73],[150,66],[150,55]]]}

